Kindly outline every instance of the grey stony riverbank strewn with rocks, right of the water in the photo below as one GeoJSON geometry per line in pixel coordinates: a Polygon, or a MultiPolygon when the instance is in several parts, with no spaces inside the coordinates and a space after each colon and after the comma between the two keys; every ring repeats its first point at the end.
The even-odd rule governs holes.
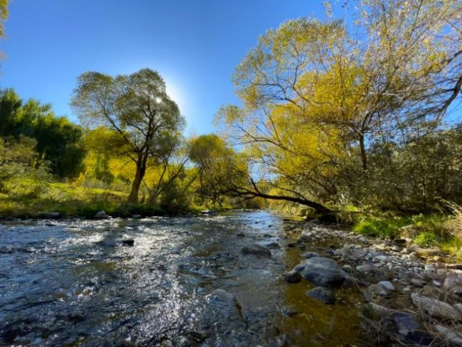
{"type": "MultiPolygon", "coordinates": [[[[296,240],[290,246],[300,250],[307,266],[310,260],[318,262],[324,257],[338,263],[341,270],[334,266],[326,273],[343,271],[344,285],[354,285],[362,293],[362,325],[377,341],[462,344],[462,265],[452,263],[455,257],[439,249],[421,248],[409,238],[371,238],[316,223],[294,226],[286,237],[296,240]],[[321,247],[321,252],[305,252],[313,245],[321,247]]],[[[300,270],[303,264],[296,271],[313,282],[306,269],[300,270]]],[[[323,291],[323,298],[333,300],[335,291],[323,291]]]]}

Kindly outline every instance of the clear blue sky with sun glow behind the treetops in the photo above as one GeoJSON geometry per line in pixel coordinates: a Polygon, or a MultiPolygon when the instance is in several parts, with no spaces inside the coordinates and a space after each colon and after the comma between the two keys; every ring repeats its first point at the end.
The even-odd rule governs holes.
{"type": "Polygon", "coordinates": [[[77,76],[159,71],[188,122],[213,131],[220,105],[237,102],[235,66],[257,37],[289,18],[324,15],[321,0],[11,0],[0,50],[0,87],[69,102],[77,76]]]}

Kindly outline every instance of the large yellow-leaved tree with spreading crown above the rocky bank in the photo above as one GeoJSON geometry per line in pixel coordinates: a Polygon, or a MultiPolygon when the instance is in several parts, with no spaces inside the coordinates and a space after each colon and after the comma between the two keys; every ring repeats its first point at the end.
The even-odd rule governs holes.
{"type": "Polygon", "coordinates": [[[255,181],[306,203],[343,196],[370,177],[373,148],[434,131],[460,95],[461,0],[353,3],[352,23],[299,18],[261,36],[233,78],[243,107],[217,117],[255,181]]]}

